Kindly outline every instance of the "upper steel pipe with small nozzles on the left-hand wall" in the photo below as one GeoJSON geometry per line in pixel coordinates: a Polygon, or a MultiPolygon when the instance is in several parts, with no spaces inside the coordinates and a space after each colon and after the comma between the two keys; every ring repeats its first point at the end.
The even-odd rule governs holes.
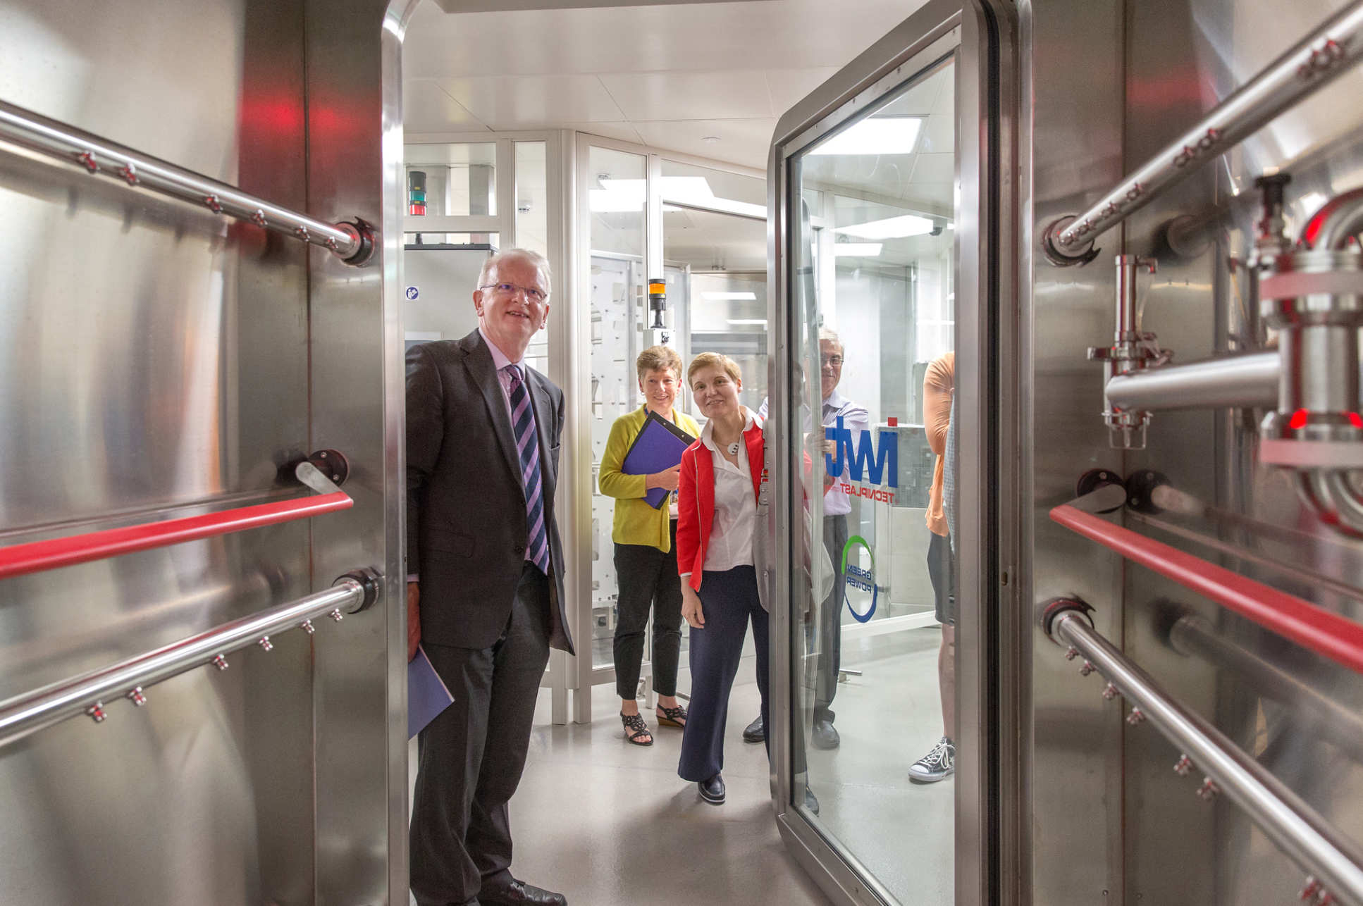
{"type": "Polygon", "coordinates": [[[91,174],[104,173],[128,185],[194,202],[214,214],[301,238],[331,249],[348,264],[364,264],[373,253],[373,229],[358,218],[327,223],[4,101],[0,101],[0,140],[83,166],[91,174]]]}

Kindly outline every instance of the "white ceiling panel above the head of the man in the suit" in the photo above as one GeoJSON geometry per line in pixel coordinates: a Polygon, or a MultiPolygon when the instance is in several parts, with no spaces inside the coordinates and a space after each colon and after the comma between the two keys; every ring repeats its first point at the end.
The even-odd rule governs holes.
{"type": "Polygon", "coordinates": [[[493,129],[628,119],[594,75],[461,78],[439,84],[493,129]]]}

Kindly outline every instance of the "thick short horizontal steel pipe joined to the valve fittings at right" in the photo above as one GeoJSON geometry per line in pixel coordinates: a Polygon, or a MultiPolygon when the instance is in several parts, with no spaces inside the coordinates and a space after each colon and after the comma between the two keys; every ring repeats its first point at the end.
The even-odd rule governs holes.
{"type": "Polygon", "coordinates": [[[1120,409],[1150,411],[1264,406],[1278,403],[1278,353],[1251,353],[1210,358],[1187,365],[1148,368],[1118,375],[1107,383],[1107,398],[1120,409]]]}

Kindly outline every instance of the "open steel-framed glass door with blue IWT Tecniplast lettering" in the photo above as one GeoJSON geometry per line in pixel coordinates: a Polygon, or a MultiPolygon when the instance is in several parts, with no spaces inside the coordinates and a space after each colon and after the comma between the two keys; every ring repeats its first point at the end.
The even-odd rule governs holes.
{"type": "Polygon", "coordinates": [[[998,902],[1002,33],[924,5],[771,153],[773,796],[837,902],[998,902]]]}

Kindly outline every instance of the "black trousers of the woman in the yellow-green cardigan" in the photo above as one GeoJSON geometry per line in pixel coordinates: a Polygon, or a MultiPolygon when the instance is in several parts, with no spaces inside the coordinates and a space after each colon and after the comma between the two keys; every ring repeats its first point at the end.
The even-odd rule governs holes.
{"type": "Polygon", "coordinates": [[[682,658],[682,580],[677,578],[677,520],[672,549],[645,544],[615,545],[615,575],[620,587],[615,624],[615,691],[622,699],[639,693],[643,634],[653,609],[653,691],[677,693],[682,658]]]}

